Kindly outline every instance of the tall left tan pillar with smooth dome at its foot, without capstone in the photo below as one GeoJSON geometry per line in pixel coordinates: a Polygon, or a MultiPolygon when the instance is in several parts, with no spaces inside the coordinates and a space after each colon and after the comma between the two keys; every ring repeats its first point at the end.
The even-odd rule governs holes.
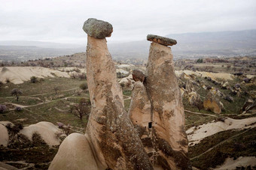
{"type": "MultiPolygon", "coordinates": [[[[88,35],[87,83],[92,103],[86,131],[87,142],[78,139],[79,136],[72,136],[63,143],[66,144],[68,139],[75,142],[83,140],[83,145],[90,145],[86,148],[93,156],[88,155],[85,150],[80,154],[84,158],[93,157],[91,160],[95,160],[95,169],[153,169],[142,142],[123,108],[123,93],[117,82],[114,62],[108,52],[105,38],[98,39],[88,35]]],[[[75,145],[61,145],[50,169],[87,169],[82,162],[78,163],[80,165],[72,164],[76,162],[73,155],[77,152],[66,152],[70,160],[60,161],[59,157],[62,154],[59,153],[63,153],[68,147],[76,148],[75,145]]]]}

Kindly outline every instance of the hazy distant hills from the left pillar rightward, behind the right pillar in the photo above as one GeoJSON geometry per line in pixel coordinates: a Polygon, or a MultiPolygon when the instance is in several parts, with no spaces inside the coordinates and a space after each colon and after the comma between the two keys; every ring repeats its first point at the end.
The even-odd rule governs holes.
{"type": "MultiPolygon", "coordinates": [[[[172,46],[175,58],[256,55],[256,30],[168,34],[165,37],[178,41],[172,46]]],[[[120,58],[147,58],[150,42],[142,40],[108,46],[111,54],[120,58]]]]}

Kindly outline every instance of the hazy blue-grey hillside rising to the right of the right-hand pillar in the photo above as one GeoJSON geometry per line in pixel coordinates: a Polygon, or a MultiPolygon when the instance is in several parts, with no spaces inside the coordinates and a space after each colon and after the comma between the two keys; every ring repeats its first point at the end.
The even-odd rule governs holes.
{"type": "Polygon", "coordinates": [[[176,55],[256,55],[256,30],[168,34],[176,55]]]}

